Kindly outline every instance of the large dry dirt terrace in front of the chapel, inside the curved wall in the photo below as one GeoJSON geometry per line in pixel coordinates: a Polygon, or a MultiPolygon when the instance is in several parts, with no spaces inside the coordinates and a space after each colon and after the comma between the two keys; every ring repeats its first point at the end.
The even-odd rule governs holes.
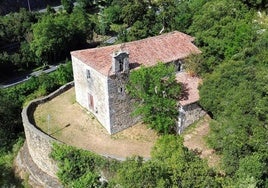
{"type": "Polygon", "coordinates": [[[141,123],[109,135],[93,115],[75,102],[74,88],[39,105],[34,118],[42,131],[66,144],[118,159],[133,155],[149,158],[158,137],[141,123]]]}

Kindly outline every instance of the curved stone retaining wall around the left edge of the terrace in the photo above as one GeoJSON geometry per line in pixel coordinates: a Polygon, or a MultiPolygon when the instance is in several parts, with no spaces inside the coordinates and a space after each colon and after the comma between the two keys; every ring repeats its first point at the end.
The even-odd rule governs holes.
{"type": "MultiPolygon", "coordinates": [[[[62,94],[63,92],[67,91],[68,89],[72,88],[74,86],[73,82],[70,82],[62,87],[60,87],[58,90],[55,92],[49,94],[48,96],[41,98],[41,99],[36,99],[30,102],[28,106],[26,106],[22,110],[22,121],[23,121],[23,126],[24,126],[24,132],[26,136],[26,145],[25,147],[27,152],[29,153],[28,157],[31,157],[32,161],[35,163],[35,165],[44,173],[47,175],[51,176],[52,179],[57,180],[57,164],[54,160],[52,160],[49,155],[52,150],[52,143],[53,142],[58,142],[58,140],[48,136],[44,132],[42,132],[40,129],[38,129],[35,126],[35,121],[33,117],[33,113],[36,109],[36,107],[39,104],[45,103],[54,97],[62,94]]],[[[24,156],[27,157],[27,156],[24,156]]],[[[23,158],[21,156],[20,158],[23,158]]],[[[34,170],[31,169],[28,165],[27,169],[30,171],[30,176],[35,176],[36,174],[34,173],[34,170]]],[[[42,181],[41,179],[37,179],[37,181],[43,185],[44,187],[50,187],[47,185],[46,182],[40,182],[42,181]]]]}

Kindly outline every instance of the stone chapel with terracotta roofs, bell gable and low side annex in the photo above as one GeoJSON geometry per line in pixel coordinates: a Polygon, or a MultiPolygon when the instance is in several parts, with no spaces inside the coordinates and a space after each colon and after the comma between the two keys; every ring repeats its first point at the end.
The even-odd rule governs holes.
{"type": "Polygon", "coordinates": [[[183,70],[183,60],[201,51],[194,38],[174,31],[155,37],[71,52],[77,102],[94,114],[110,133],[122,131],[140,119],[131,115],[133,99],[125,92],[128,75],[139,66],[174,63],[177,80],[187,90],[179,101],[177,131],[204,115],[198,105],[200,80],[183,70]]]}

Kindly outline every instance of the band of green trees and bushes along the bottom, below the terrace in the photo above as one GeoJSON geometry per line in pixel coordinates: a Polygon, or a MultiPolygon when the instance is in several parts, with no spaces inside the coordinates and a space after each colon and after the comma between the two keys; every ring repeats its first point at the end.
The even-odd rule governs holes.
{"type": "Polygon", "coordinates": [[[149,161],[137,156],[118,162],[61,144],[54,144],[51,156],[67,187],[220,187],[213,170],[185,148],[179,136],[162,136],[149,161]],[[104,172],[114,174],[106,176],[108,185],[99,182],[104,172]]]}

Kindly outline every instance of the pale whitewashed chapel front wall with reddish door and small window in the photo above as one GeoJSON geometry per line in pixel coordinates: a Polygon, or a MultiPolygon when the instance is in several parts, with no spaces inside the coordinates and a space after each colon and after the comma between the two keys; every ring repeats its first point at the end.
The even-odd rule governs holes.
{"type": "Polygon", "coordinates": [[[107,77],[72,57],[76,101],[100,121],[110,132],[107,77]],[[90,75],[88,75],[90,74],[90,75]],[[93,106],[90,107],[90,95],[93,106]]]}

